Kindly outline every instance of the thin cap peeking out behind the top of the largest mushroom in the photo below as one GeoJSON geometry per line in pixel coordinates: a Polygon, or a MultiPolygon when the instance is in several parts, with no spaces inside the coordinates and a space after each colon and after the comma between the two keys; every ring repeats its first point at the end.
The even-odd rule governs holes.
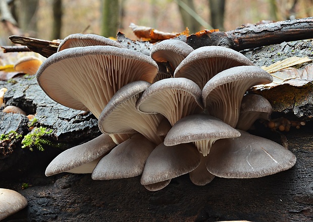
{"type": "Polygon", "coordinates": [[[111,45],[119,48],[124,48],[121,43],[106,38],[100,35],[95,34],[71,34],[67,36],[63,41],[60,43],[58,47],[58,51],[61,51],[66,48],[74,48],[74,47],[84,47],[84,46],[91,46],[91,45],[111,45]]]}

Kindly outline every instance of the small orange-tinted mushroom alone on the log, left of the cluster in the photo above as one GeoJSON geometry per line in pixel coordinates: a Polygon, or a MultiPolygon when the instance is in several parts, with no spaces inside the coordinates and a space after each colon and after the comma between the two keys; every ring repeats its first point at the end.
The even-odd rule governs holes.
{"type": "Polygon", "coordinates": [[[16,62],[16,64],[14,65],[14,69],[17,72],[26,73],[28,75],[34,75],[36,74],[41,64],[42,60],[38,59],[37,57],[33,56],[22,57],[16,62]]]}

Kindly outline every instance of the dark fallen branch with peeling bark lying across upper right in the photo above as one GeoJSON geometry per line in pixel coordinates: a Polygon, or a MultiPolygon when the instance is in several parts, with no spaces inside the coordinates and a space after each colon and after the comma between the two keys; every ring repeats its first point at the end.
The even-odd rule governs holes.
{"type": "Polygon", "coordinates": [[[243,26],[228,32],[201,31],[188,36],[187,43],[193,48],[221,45],[240,51],[309,38],[313,38],[312,17],[249,27],[243,26]]]}

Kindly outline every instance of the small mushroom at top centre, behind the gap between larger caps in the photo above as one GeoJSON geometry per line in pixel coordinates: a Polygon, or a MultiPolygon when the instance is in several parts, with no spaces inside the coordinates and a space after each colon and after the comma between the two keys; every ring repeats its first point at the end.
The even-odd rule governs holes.
{"type": "Polygon", "coordinates": [[[156,43],[150,52],[151,58],[156,62],[169,62],[173,71],[187,55],[193,51],[193,48],[186,42],[176,39],[166,39],[156,43]]]}

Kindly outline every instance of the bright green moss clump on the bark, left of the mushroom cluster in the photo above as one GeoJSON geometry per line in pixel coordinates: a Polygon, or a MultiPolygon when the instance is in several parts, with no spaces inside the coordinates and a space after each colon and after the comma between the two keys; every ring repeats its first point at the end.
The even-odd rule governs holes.
{"type": "Polygon", "coordinates": [[[43,151],[43,145],[60,147],[61,144],[51,142],[44,138],[50,133],[52,133],[52,130],[48,130],[45,127],[34,128],[34,130],[27,134],[22,140],[22,148],[28,148],[30,151],[33,151],[33,148],[37,148],[43,151]]]}

